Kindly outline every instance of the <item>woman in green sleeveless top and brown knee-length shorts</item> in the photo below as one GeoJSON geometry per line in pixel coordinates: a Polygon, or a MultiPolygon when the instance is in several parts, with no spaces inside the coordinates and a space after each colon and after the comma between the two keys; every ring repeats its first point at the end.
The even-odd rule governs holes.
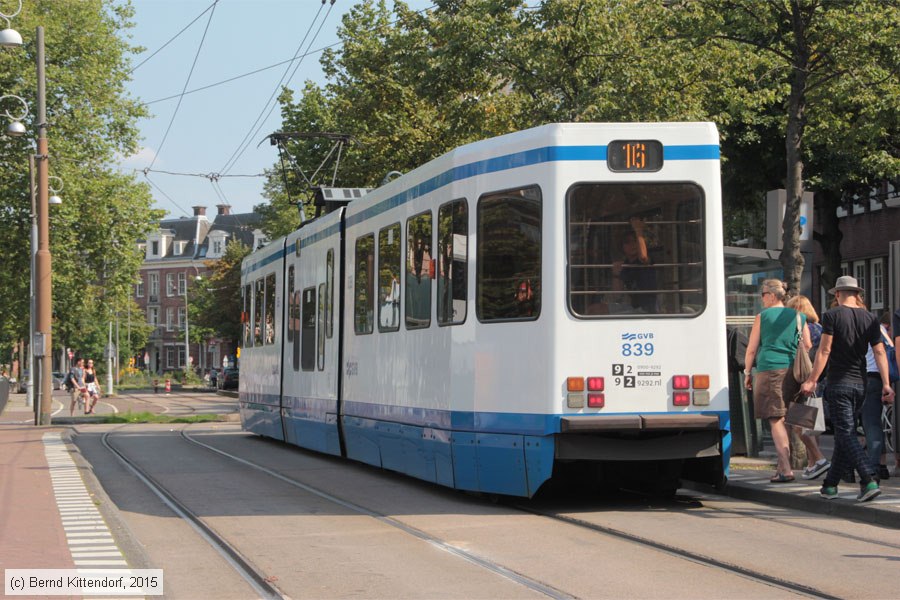
{"type": "Polygon", "coordinates": [[[808,351],[812,346],[806,315],[784,305],[787,289],[778,279],[766,279],[760,287],[763,310],[756,315],[747,354],[744,357],[746,371],[744,385],[753,390],[753,410],[758,419],[767,419],[772,431],[772,441],[778,454],[778,470],[770,481],[786,483],[794,480],[791,469],[790,438],[784,424],[789,402],[800,389],[794,381],[791,366],[797,354],[797,315],[800,314],[802,344],[808,351]],[[750,368],[756,363],[756,381],[750,376],[750,368]]]}

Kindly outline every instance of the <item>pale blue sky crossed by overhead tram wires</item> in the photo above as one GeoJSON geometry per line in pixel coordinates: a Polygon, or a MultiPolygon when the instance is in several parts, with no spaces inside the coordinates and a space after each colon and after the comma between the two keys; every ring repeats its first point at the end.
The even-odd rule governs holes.
{"type": "MultiPolygon", "coordinates": [[[[132,0],[130,43],[145,51],[132,57],[128,90],[151,117],[138,123],[140,151],[119,168],[150,183],[156,207],[171,218],[192,215],[193,206],[211,217],[218,204],[244,213],[265,202],[258,175],[278,160],[266,136],[281,126],[281,87],[325,83],[321,51],[339,48],[341,18],[357,3],[132,0]]],[[[431,2],[407,4],[418,10],[431,2]]]]}

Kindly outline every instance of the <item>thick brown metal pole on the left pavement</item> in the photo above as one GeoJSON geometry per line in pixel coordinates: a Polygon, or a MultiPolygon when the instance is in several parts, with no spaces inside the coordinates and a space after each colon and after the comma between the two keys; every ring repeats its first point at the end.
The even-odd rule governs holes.
{"type": "Polygon", "coordinates": [[[53,371],[53,355],[52,355],[52,298],[53,290],[51,286],[51,260],[50,260],[50,205],[48,202],[50,181],[48,173],[49,149],[47,143],[47,106],[46,106],[46,85],[44,81],[44,28],[37,28],[36,36],[37,52],[35,54],[35,64],[37,67],[37,156],[35,156],[35,166],[37,170],[37,220],[38,220],[38,251],[36,255],[35,270],[36,287],[37,287],[37,319],[35,326],[37,332],[36,338],[41,338],[38,344],[35,344],[35,350],[40,352],[40,368],[38,373],[39,379],[39,398],[41,403],[40,425],[50,425],[51,413],[51,393],[52,378],[50,373],[53,371]]]}

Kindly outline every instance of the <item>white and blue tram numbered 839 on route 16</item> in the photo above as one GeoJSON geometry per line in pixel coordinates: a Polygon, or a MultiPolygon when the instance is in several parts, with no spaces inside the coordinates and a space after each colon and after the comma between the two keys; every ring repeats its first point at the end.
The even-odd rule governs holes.
{"type": "Polygon", "coordinates": [[[728,471],[710,123],[457,148],[248,256],[244,429],[463,490],[728,471]]]}

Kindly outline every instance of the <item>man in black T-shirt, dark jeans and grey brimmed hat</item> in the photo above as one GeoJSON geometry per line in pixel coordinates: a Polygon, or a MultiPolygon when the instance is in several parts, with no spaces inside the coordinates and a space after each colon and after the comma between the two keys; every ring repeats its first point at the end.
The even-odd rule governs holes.
{"type": "Polygon", "coordinates": [[[856,409],[862,405],[866,393],[866,350],[872,346],[875,364],[881,377],[881,402],[892,404],[887,356],[881,337],[881,327],[872,313],[860,308],[857,299],[862,288],[849,275],[838,277],[828,290],[837,299],[838,306],[822,315],[822,341],[816,353],[813,370],[801,390],[810,395],[816,388],[819,375],[828,365],[828,383],[825,402],[831,414],[834,429],[834,453],[831,468],[825,475],[819,495],[828,500],[838,497],[838,483],[849,477],[853,469],[859,474],[859,502],[867,502],[881,493],[875,479],[875,470],[863,452],[856,436],[856,409]]]}

